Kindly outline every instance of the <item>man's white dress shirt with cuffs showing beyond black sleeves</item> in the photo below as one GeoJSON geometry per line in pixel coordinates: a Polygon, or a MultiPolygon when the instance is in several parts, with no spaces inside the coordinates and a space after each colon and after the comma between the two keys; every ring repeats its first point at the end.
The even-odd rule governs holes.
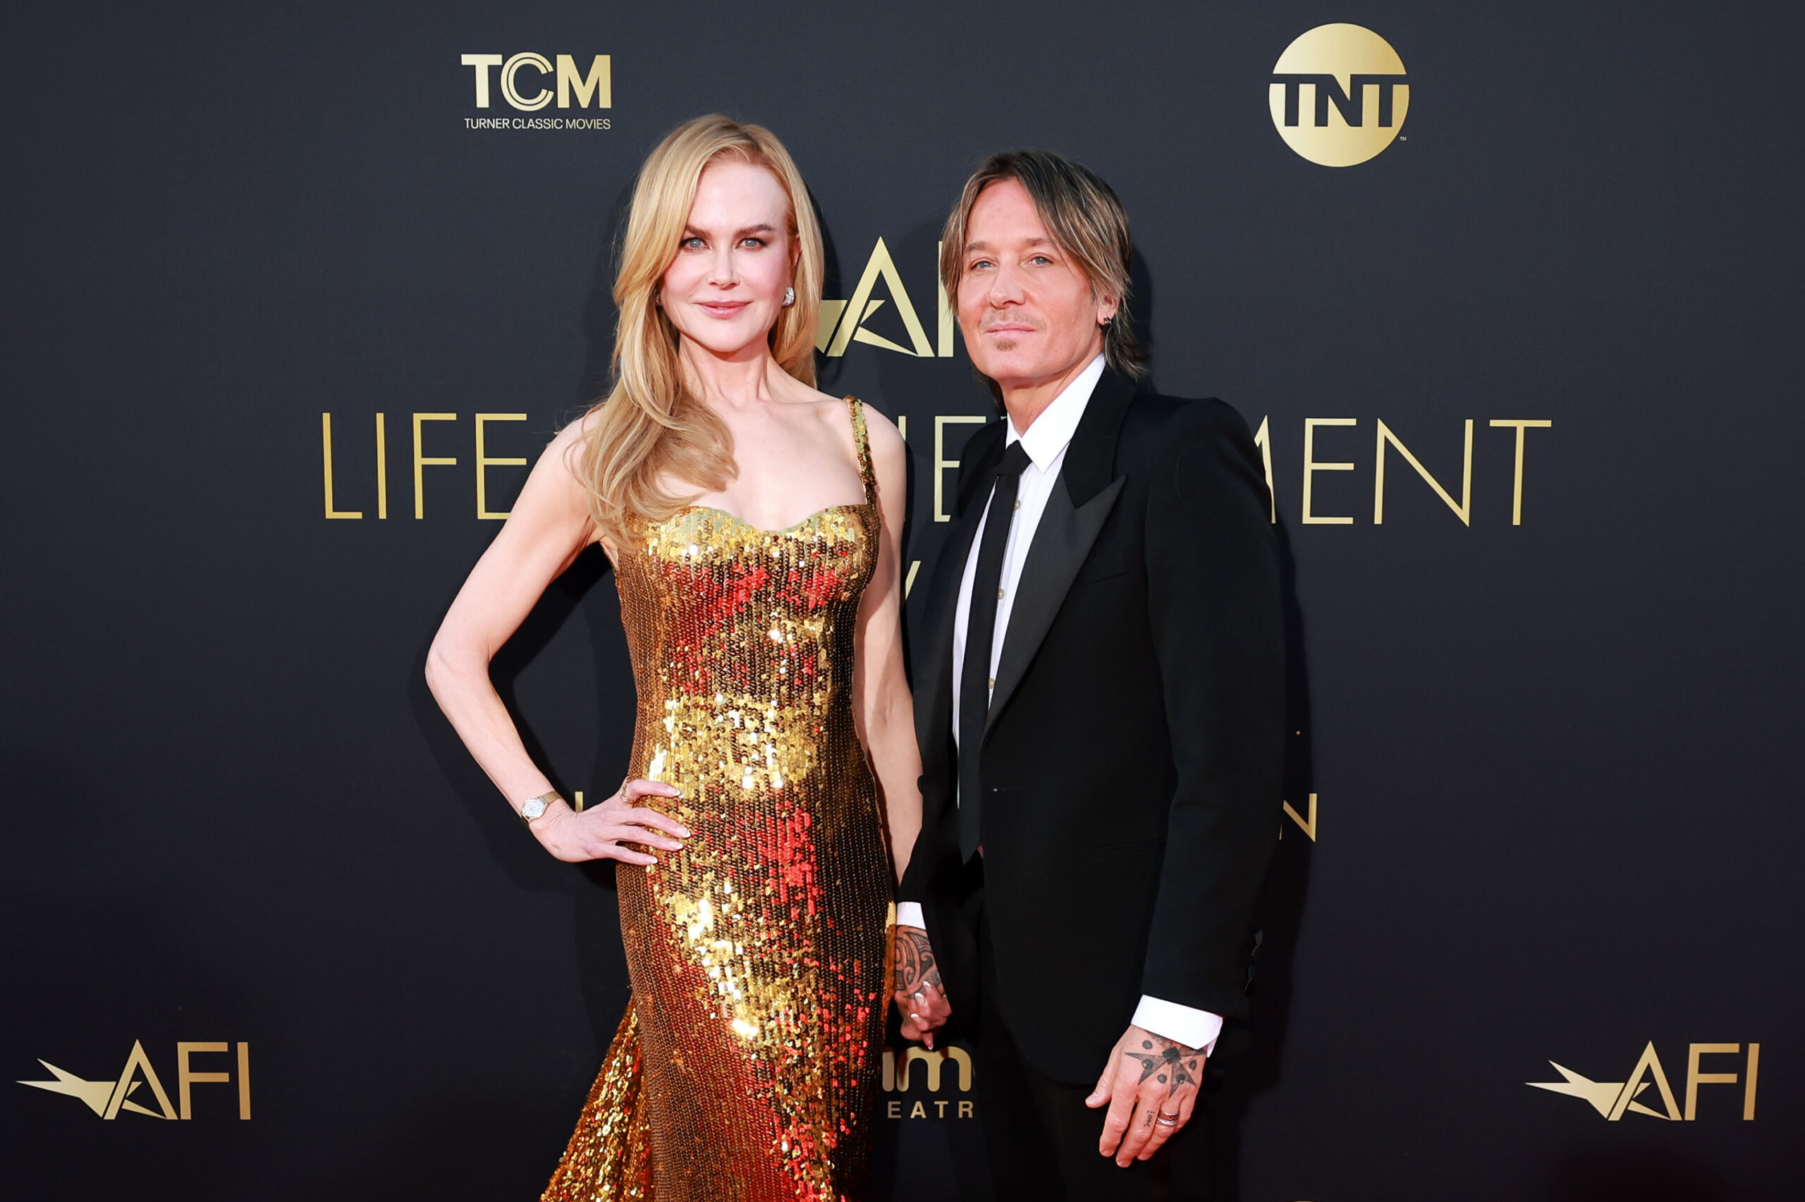
{"type": "MultiPolygon", "coordinates": [[[[1022,469],[1022,484],[1016,489],[1016,505],[1009,529],[1009,541],[1004,545],[1002,596],[996,597],[996,632],[991,637],[991,688],[996,688],[996,664],[1004,653],[1004,633],[1009,630],[1009,612],[1014,608],[1016,585],[1022,579],[1022,565],[1027,563],[1027,550],[1034,545],[1034,531],[1040,529],[1040,516],[1047,511],[1047,498],[1065,466],[1065,449],[1072,444],[1090,393],[1103,379],[1103,356],[1097,356],[1065,390],[1052,399],[1041,415],[1029,424],[1027,433],[1009,421],[1005,446],[1020,442],[1027,451],[1029,466],[1022,469]]],[[[958,688],[966,664],[966,628],[971,615],[971,581],[978,572],[978,547],[984,543],[984,523],[991,520],[989,502],[984,505],[984,518],[971,536],[971,552],[966,556],[966,576],[958,583],[958,610],[953,615],[953,742],[958,742],[958,688]]],[[[921,902],[897,904],[899,926],[921,926],[921,902]]],[[[1141,996],[1135,1007],[1134,1025],[1168,1040],[1177,1040],[1184,1047],[1202,1049],[1206,1056],[1217,1049],[1217,1036],[1222,1034],[1222,1016],[1199,1011],[1161,998],[1141,996]]]]}

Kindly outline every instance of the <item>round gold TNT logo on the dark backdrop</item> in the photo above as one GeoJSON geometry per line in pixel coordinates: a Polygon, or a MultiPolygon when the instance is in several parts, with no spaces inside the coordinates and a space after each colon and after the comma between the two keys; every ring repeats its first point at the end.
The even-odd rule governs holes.
{"type": "Polygon", "coordinates": [[[1404,60],[1374,31],[1318,25],[1273,63],[1267,103],[1287,146],[1321,166],[1354,166],[1404,126],[1410,79],[1404,60]]]}

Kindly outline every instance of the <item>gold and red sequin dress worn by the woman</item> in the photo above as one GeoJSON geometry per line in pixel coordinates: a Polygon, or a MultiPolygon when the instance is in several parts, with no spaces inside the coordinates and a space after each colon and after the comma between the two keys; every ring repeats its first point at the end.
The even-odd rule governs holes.
{"type": "Polygon", "coordinates": [[[545,1202],[863,1197],[892,879],[852,726],[879,514],[847,404],[865,504],[785,531],[691,505],[616,563],[630,772],[693,834],[616,872],[634,998],[545,1202]]]}

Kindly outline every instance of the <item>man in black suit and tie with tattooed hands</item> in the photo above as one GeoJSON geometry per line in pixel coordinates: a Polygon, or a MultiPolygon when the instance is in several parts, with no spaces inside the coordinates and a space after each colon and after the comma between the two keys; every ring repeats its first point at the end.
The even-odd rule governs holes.
{"type": "Polygon", "coordinates": [[[897,1003],[971,1038],[1005,1200],[1209,1193],[1199,1083],[1280,827],[1260,457],[1220,401],[1137,388],[1128,265],[1115,193],[1051,152],[986,162],[940,258],[1007,415],[966,446],[917,641],[897,1003]]]}

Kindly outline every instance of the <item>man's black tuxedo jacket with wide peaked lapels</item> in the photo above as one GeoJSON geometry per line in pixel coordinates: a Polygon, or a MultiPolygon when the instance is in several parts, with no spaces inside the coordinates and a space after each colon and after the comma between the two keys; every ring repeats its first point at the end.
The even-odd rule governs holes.
{"type": "Polygon", "coordinates": [[[953,617],[1004,421],[971,437],[915,641],[919,901],[955,1014],[958,754],[980,754],[996,998],[1047,1076],[1096,1081],[1141,994],[1245,1012],[1254,893],[1280,828],[1285,644],[1260,455],[1220,401],[1106,372],[1034,532],[982,749],[953,742],[953,617]]]}

